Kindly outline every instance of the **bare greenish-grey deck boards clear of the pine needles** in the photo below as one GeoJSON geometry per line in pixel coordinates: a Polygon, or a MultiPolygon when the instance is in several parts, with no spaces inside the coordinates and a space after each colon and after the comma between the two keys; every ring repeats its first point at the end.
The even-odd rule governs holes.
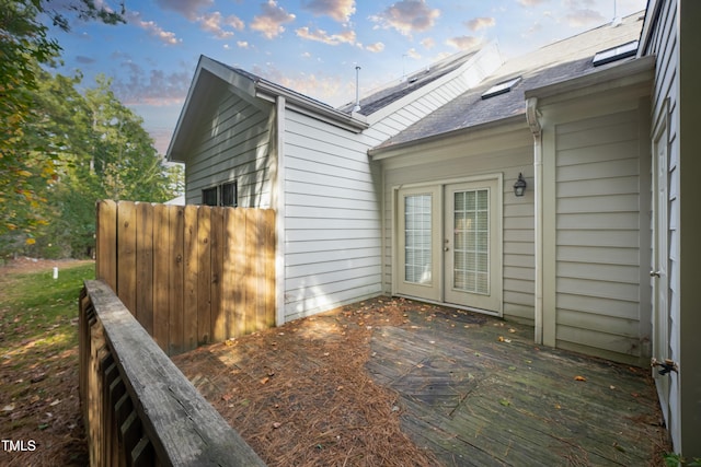
{"type": "Polygon", "coordinates": [[[645,466],[664,436],[647,370],[539,348],[530,327],[409,312],[367,369],[405,406],[402,428],[449,466],[645,466]]]}

